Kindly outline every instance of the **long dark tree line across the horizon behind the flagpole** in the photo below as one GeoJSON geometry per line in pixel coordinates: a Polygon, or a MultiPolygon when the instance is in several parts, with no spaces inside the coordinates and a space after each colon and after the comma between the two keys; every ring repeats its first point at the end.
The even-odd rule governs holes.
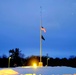
{"type": "MultiPolygon", "coordinates": [[[[9,57],[3,55],[0,57],[0,67],[8,67],[10,61],[10,67],[17,66],[31,66],[34,62],[39,63],[40,56],[24,57],[19,48],[9,50],[9,57]],[[10,59],[9,59],[10,58],[10,59]]],[[[48,56],[42,56],[43,66],[67,66],[76,68],[76,56],[67,58],[52,58],[48,56]]]]}

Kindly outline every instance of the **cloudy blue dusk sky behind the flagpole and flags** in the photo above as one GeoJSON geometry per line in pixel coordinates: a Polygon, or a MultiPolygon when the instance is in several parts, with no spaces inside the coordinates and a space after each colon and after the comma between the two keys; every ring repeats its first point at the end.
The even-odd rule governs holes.
{"type": "Polygon", "coordinates": [[[16,47],[25,56],[39,55],[40,6],[43,55],[76,55],[76,0],[0,0],[0,55],[16,47]]]}

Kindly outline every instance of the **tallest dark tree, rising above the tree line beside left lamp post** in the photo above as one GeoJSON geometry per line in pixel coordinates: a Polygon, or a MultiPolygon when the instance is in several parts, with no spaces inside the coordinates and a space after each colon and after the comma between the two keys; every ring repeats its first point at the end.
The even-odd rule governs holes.
{"type": "Polygon", "coordinates": [[[21,66],[23,64],[22,56],[23,54],[21,54],[19,48],[9,50],[9,57],[11,57],[11,66],[21,66]]]}

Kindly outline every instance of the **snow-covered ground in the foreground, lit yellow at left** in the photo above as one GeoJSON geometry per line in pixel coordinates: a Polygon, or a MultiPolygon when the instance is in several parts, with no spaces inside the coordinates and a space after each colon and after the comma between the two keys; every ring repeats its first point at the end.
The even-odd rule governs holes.
{"type": "Polygon", "coordinates": [[[76,68],[71,67],[0,68],[0,75],[76,75],[76,68]]]}

